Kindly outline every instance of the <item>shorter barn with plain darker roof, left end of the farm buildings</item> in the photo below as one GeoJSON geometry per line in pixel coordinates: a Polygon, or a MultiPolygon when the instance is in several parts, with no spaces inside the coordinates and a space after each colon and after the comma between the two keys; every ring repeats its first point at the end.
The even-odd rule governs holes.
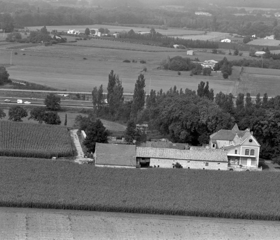
{"type": "Polygon", "coordinates": [[[136,167],[136,146],[98,143],[95,145],[95,166],[136,167]]]}

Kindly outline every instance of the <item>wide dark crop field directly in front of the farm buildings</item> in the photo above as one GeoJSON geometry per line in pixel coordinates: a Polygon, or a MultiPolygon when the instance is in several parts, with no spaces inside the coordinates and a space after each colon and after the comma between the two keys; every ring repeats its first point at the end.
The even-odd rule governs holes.
{"type": "Polygon", "coordinates": [[[0,206],[280,220],[277,172],[98,168],[0,157],[0,206]]]}

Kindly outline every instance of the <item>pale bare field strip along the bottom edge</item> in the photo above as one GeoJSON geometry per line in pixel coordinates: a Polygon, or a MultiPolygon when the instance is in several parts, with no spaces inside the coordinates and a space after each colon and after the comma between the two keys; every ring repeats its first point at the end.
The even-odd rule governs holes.
{"type": "Polygon", "coordinates": [[[0,207],[0,239],[280,239],[280,222],[0,207]]]}

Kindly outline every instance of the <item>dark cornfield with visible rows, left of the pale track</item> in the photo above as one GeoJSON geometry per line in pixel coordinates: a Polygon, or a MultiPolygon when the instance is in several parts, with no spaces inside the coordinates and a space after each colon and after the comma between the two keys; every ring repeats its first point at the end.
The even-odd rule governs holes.
{"type": "Polygon", "coordinates": [[[71,156],[68,129],[62,126],[0,121],[0,155],[39,158],[71,156]]]}

